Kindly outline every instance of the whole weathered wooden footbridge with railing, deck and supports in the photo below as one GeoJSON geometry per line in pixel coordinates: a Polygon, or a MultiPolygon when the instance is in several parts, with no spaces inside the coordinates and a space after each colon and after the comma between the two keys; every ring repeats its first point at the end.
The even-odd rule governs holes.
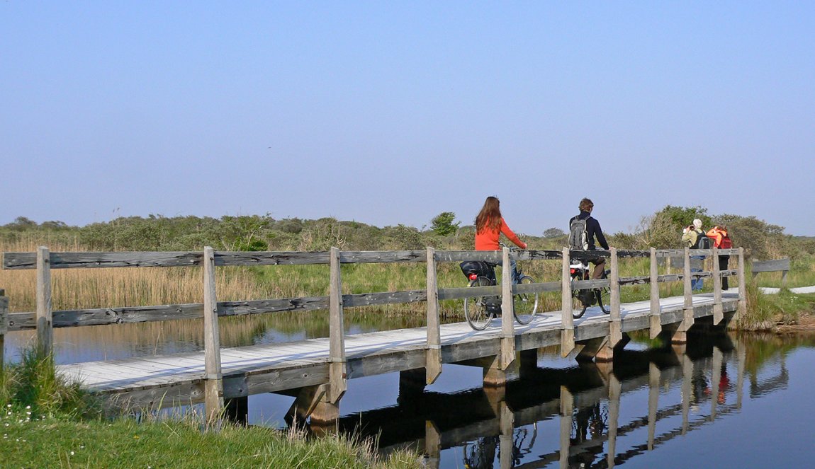
{"type": "MultiPolygon", "coordinates": [[[[504,386],[518,374],[522,362],[536,356],[540,347],[557,345],[562,356],[579,350],[579,360],[610,361],[614,350],[627,341],[626,334],[649,330],[650,336],[670,335],[684,343],[686,332],[697,319],[711,316],[714,324],[738,318],[746,307],[744,254],[738,250],[693,250],[694,255],[716,258],[738,257],[734,270],[690,271],[691,250],[525,250],[503,251],[340,251],[302,252],[142,252],[142,253],[4,253],[2,267],[37,270],[37,311],[8,313],[0,302],[0,351],[7,331],[37,330],[37,344],[50,352],[53,328],[122,324],[174,319],[204,319],[202,352],[107,362],[59,366],[65,376],[81,380],[87,389],[117,397],[118,405],[155,406],[205,402],[210,418],[225,406],[256,393],[284,393],[296,397],[290,415],[311,418],[311,423],[334,424],[340,415],[340,400],[347,380],[399,371],[405,380],[431,384],[442,372],[443,363],[482,367],[486,386],[504,386]],[[610,259],[610,279],[572,282],[571,258],[605,256],[610,259]],[[659,274],[659,258],[684,257],[681,273],[659,274]],[[554,262],[562,265],[562,278],[555,282],[513,285],[509,259],[554,262]],[[619,259],[650,258],[649,276],[619,276],[619,259]],[[478,288],[438,288],[437,263],[485,260],[502,266],[501,284],[478,288]],[[343,294],[343,263],[425,263],[426,289],[405,292],[343,294]],[[324,297],[218,302],[215,269],[219,266],[272,266],[328,264],[329,293],[324,297]],[[203,302],[162,306],[111,307],[89,310],[51,310],[51,269],[96,267],[203,267],[203,302]],[[721,289],[723,276],[738,277],[738,293],[721,289]],[[691,279],[709,277],[713,292],[693,294],[691,279]],[[683,283],[679,297],[659,297],[659,283],[683,283]],[[621,304],[620,288],[650,284],[650,299],[621,304]],[[610,315],[589,308],[581,319],[572,318],[572,290],[610,286],[610,315]],[[562,309],[546,311],[531,324],[513,322],[513,293],[560,292],[562,309]],[[494,327],[474,331],[466,323],[441,324],[439,301],[482,295],[502,297],[502,315],[494,327]],[[355,306],[425,302],[426,326],[346,335],[343,310],[355,306]],[[222,348],[218,318],[279,311],[328,310],[329,337],[282,344],[222,348]]],[[[2,352],[0,352],[2,358],[2,352]]],[[[2,363],[2,359],[0,359],[2,363]]]]}

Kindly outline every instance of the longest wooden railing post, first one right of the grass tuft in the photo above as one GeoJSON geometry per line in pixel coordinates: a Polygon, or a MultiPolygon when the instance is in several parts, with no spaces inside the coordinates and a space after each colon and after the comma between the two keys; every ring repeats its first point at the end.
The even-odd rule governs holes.
{"type": "Polygon", "coordinates": [[[204,408],[207,421],[220,418],[223,410],[221,337],[218,329],[218,296],[215,293],[215,253],[204,248],[204,408]]]}

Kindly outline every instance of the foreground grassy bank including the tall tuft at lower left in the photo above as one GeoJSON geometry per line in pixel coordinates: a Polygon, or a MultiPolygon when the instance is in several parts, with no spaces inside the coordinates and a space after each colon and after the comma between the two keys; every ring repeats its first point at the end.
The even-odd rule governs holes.
{"type": "Polygon", "coordinates": [[[380,458],[370,441],[225,424],[204,431],[196,415],[104,419],[94,399],[26,351],[0,374],[2,467],[420,467],[416,454],[380,458]]]}

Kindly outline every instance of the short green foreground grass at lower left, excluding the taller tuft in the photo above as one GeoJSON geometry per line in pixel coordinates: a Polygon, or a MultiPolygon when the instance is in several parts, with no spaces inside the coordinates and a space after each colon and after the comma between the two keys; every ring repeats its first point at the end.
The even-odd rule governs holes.
{"type": "Polygon", "coordinates": [[[194,419],[29,419],[7,411],[0,421],[2,467],[420,467],[415,454],[377,458],[348,436],[307,439],[296,432],[226,425],[201,431],[194,419]]]}

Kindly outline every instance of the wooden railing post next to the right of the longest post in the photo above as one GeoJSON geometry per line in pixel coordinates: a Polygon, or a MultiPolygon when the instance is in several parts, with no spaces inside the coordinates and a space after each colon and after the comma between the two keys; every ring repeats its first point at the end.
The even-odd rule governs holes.
{"type": "MultiPolygon", "coordinates": [[[[331,286],[328,294],[328,354],[331,365],[328,369],[328,402],[337,404],[348,389],[346,381],[346,338],[342,318],[342,280],[340,276],[340,250],[332,247],[329,255],[331,286]]],[[[339,410],[339,409],[337,409],[339,410]]]]}

